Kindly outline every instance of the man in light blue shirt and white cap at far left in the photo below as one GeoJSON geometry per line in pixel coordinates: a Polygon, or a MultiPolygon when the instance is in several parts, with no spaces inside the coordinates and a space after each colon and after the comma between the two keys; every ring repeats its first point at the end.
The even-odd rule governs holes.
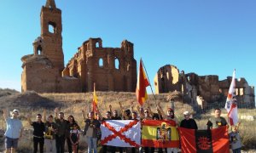
{"type": "Polygon", "coordinates": [[[5,135],[5,149],[6,153],[14,153],[18,147],[18,140],[22,136],[23,126],[18,119],[19,111],[11,111],[11,117],[7,115],[7,111],[3,110],[3,118],[6,122],[6,132],[5,135]]]}

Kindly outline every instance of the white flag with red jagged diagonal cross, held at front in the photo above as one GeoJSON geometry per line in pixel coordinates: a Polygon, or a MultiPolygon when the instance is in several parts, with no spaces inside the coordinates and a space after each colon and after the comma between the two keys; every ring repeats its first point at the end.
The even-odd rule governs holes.
{"type": "Polygon", "coordinates": [[[101,131],[101,144],[119,147],[141,145],[141,123],[138,120],[103,121],[101,131]]]}

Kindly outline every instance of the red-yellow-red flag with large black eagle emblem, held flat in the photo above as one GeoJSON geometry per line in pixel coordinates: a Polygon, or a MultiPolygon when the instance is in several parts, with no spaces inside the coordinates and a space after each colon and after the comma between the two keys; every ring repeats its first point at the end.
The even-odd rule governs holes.
{"type": "Polygon", "coordinates": [[[179,138],[176,123],[170,120],[144,120],[142,122],[142,146],[177,148],[179,138]]]}

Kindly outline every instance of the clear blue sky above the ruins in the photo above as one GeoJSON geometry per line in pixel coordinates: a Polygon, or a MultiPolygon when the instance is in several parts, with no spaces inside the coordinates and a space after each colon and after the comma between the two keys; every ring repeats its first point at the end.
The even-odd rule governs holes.
{"type": "MultiPolygon", "coordinates": [[[[20,91],[21,61],[40,35],[46,0],[2,0],[0,5],[0,88],[20,91]]],[[[153,82],[163,65],[200,76],[245,77],[256,84],[255,0],[55,0],[62,10],[65,65],[89,37],[103,47],[134,43],[153,82]]]]}

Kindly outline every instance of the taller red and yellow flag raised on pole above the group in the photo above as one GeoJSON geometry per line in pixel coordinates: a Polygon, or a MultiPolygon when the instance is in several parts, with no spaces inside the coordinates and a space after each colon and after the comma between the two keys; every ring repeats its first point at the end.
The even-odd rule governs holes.
{"type": "Polygon", "coordinates": [[[137,88],[136,88],[136,96],[137,101],[140,105],[148,99],[148,94],[146,88],[149,86],[148,78],[145,75],[145,71],[143,70],[143,59],[140,60],[140,66],[137,75],[137,88]]]}

